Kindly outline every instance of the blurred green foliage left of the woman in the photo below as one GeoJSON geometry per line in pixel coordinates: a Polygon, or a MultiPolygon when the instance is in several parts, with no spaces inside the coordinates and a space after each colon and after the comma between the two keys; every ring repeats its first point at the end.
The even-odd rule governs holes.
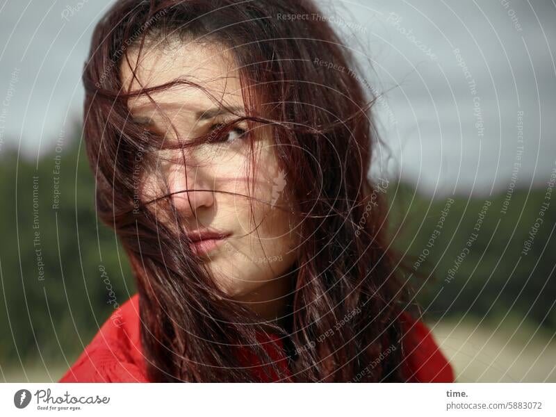
{"type": "Polygon", "coordinates": [[[136,292],[120,242],[97,222],[95,183],[75,139],[62,138],[38,163],[10,150],[0,156],[4,368],[19,360],[72,363],[116,303],[136,292]]]}

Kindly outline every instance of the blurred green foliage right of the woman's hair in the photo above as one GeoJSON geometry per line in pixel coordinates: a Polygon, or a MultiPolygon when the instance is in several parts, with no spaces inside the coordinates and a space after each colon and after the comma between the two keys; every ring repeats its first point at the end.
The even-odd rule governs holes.
{"type": "Polygon", "coordinates": [[[547,188],[545,183],[511,195],[435,199],[404,184],[389,188],[393,246],[403,254],[407,277],[430,318],[497,323],[519,317],[556,329],[556,202],[550,204],[556,193],[546,194],[547,188]],[[538,218],[542,223],[535,228],[538,218]]]}

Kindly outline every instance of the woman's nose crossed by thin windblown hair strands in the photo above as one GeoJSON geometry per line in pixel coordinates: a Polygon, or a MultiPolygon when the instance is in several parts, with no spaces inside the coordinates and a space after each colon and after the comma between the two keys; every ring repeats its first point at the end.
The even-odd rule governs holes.
{"type": "Polygon", "coordinates": [[[204,167],[175,164],[170,169],[168,183],[172,200],[181,213],[193,217],[199,210],[214,204],[212,183],[204,167]]]}

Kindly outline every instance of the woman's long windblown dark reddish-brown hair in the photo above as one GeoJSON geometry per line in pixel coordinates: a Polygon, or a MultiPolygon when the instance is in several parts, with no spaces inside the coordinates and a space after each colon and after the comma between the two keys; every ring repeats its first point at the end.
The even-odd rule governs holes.
{"type": "Polygon", "coordinates": [[[131,260],[154,382],[259,381],[238,354],[245,349],[261,360],[267,377],[285,380],[263,346],[278,345],[261,341],[261,334],[278,335],[291,347],[285,360],[297,382],[404,380],[400,314],[407,290],[386,237],[387,183],[368,179],[379,142],[371,112],[377,97],[363,87],[352,54],[319,16],[309,0],[120,0],[95,28],[83,74],[86,149],[99,218],[115,229],[131,260]],[[292,17],[298,15],[305,17],[292,17]],[[149,169],[157,150],[174,145],[134,124],[126,100],[194,83],[179,79],[126,92],[120,63],[133,67],[131,47],[169,38],[229,48],[242,85],[254,92],[244,97],[245,119],[252,127],[272,126],[295,202],[288,209],[300,219],[288,326],[261,320],[218,289],[183,230],[158,220],[166,202],[162,207],[179,224],[168,195],[134,198],[135,161],[149,169]]]}

